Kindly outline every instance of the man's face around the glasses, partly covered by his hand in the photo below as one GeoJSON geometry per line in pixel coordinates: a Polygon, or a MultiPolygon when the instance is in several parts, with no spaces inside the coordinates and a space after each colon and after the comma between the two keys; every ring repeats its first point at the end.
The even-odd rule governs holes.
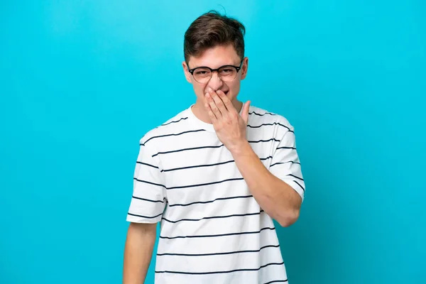
{"type": "MultiPolygon", "coordinates": [[[[218,45],[214,48],[205,50],[200,57],[190,57],[188,62],[189,69],[194,69],[196,67],[206,66],[212,69],[217,69],[224,65],[234,65],[239,66],[241,59],[236,54],[234,46],[232,45],[218,45]]],[[[210,87],[214,91],[222,90],[226,96],[231,100],[232,104],[236,106],[236,96],[239,94],[241,80],[244,80],[247,74],[247,69],[249,66],[249,59],[244,58],[243,65],[241,65],[241,70],[236,74],[236,77],[231,82],[224,82],[219,77],[218,72],[212,73],[212,78],[205,83],[197,82],[194,77],[188,72],[188,66],[186,62],[182,62],[182,67],[185,72],[185,77],[188,82],[192,83],[194,87],[194,92],[197,95],[197,104],[204,105],[206,102],[205,94],[207,89],[210,87]]]]}

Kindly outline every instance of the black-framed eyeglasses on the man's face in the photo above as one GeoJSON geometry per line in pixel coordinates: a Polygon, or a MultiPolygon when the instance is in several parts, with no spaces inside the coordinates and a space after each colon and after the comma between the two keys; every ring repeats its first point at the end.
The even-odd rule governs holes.
{"type": "Polygon", "coordinates": [[[194,77],[195,81],[199,82],[200,84],[205,84],[209,82],[209,80],[212,78],[214,71],[217,71],[217,75],[219,75],[220,80],[224,82],[231,82],[235,79],[236,74],[239,72],[239,70],[241,70],[243,61],[244,60],[241,60],[239,66],[224,65],[217,69],[212,69],[206,66],[196,67],[193,69],[189,69],[188,67],[188,72],[190,72],[192,77],[194,77]]]}

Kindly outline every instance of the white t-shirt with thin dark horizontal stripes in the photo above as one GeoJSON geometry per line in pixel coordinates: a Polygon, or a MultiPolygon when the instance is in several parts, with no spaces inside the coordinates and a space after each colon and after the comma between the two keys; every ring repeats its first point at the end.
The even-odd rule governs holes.
{"type": "MultiPolygon", "coordinates": [[[[191,107],[140,142],[127,221],[161,222],[155,283],[288,283],[273,220],[191,107]]],[[[250,107],[253,151],[303,200],[293,131],[283,116],[250,107]]]]}

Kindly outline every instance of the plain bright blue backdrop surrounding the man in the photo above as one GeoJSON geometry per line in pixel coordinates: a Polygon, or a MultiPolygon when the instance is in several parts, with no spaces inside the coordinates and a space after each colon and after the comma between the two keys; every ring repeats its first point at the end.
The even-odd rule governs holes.
{"type": "Polygon", "coordinates": [[[195,102],[209,9],[246,25],[241,100],[295,126],[290,284],[425,283],[421,0],[1,1],[0,283],[121,282],[138,141],[195,102]]]}

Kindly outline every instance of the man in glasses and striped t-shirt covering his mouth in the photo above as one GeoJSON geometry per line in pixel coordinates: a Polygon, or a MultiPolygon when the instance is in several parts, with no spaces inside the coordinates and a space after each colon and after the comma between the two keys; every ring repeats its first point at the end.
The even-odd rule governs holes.
{"type": "Polygon", "coordinates": [[[305,183],[293,126],[237,99],[245,28],[209,12],[185,33],[185,77],[197,100],[141,138],[124,283],[143,283],[160,239],[155,283],[287,283],[273,219],[293,224],[305,183]]]}

